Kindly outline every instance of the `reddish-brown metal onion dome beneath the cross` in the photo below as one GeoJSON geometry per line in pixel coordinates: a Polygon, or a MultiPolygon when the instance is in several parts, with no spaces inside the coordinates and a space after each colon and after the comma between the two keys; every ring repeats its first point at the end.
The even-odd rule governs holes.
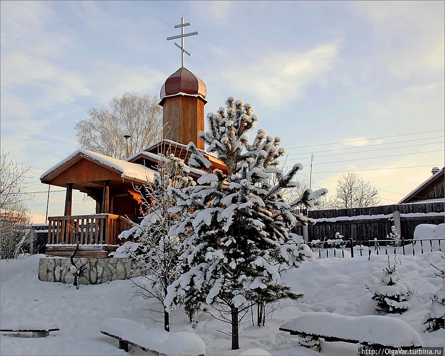
{"type": "Polygon", "coordinates": [[[167,96],[179,94],[197,96],[204,99],[206,93],[207,89],[204,82],[188,69],[182,67],[165,81],[161,88],[161,102],[159,104],[162,105],[167,96]]]}

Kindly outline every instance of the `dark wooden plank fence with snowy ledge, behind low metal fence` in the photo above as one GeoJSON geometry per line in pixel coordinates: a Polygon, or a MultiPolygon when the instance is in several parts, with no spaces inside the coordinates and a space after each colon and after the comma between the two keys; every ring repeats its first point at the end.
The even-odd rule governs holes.
{"type": "MultiPolygon", "coordinates": [[[[417,225],[444,223],[444,211],[444,202],[315,210],[309,212],[309,218],[315,219],[316,223],[308,227],[308,238],[309,241],[335,239],[335,233],[339,232],[346,240],[385,240],[395,225],[394,212],[399,212],[401,236],[412,239],[417,225]]],[[[302,226],[295,230],[304,235],[302,226]]]]}

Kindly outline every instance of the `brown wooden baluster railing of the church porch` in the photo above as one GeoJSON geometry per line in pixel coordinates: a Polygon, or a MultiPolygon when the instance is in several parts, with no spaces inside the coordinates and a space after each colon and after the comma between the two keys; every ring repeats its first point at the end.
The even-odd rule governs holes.
{"type": "Polygon", "coordinates": [[[47,244],[119,245],[118,235],[133,226],[127,218],[113,214],[48,217],[47,244]]]}

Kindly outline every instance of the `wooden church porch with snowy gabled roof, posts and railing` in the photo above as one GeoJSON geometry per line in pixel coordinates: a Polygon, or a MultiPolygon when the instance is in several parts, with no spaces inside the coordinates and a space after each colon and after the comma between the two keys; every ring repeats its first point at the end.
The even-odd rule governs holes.
{"type": "Polygon", "coordinates": [[[143,216],[138,187],[152,182],[154,173],[86,150],[76,151],[49,169],[42,183],[66,187],[66,196],[63,216],[48,217],[46,254],[69,257],[79,241],[76,257],[107,257],[124,242],[118,235],[143,216]],[[95,214],[72,215],[73,190],[94,199],[95,214]]]}

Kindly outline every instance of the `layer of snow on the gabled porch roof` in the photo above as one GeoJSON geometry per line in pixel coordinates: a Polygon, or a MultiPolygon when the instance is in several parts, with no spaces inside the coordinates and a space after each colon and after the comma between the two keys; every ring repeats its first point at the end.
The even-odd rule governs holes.
{"type": "Polygon", "coordinates": [[[68,157],[48,169],[42,176],[40,176],[40,180],[44,179],[46,176],[56,171],[64,164],[72,160],[74,157],[78,155],[83,155],[90,158],[93,161],[96,161],[104,166],[110,167],[112,169],[117,170],[121,173],[122,178],[130,179],[130,180],[138,180],[140,182],[149,182],[153,181],[154,174],[156,171],[153,171],[149,168],[146,168],[142,165],[131,163],[127,161],[123,161],[117,158],[105,156],[100,153],[87,151],[84,149],[77,150],[70,154],[68,157]]]}

